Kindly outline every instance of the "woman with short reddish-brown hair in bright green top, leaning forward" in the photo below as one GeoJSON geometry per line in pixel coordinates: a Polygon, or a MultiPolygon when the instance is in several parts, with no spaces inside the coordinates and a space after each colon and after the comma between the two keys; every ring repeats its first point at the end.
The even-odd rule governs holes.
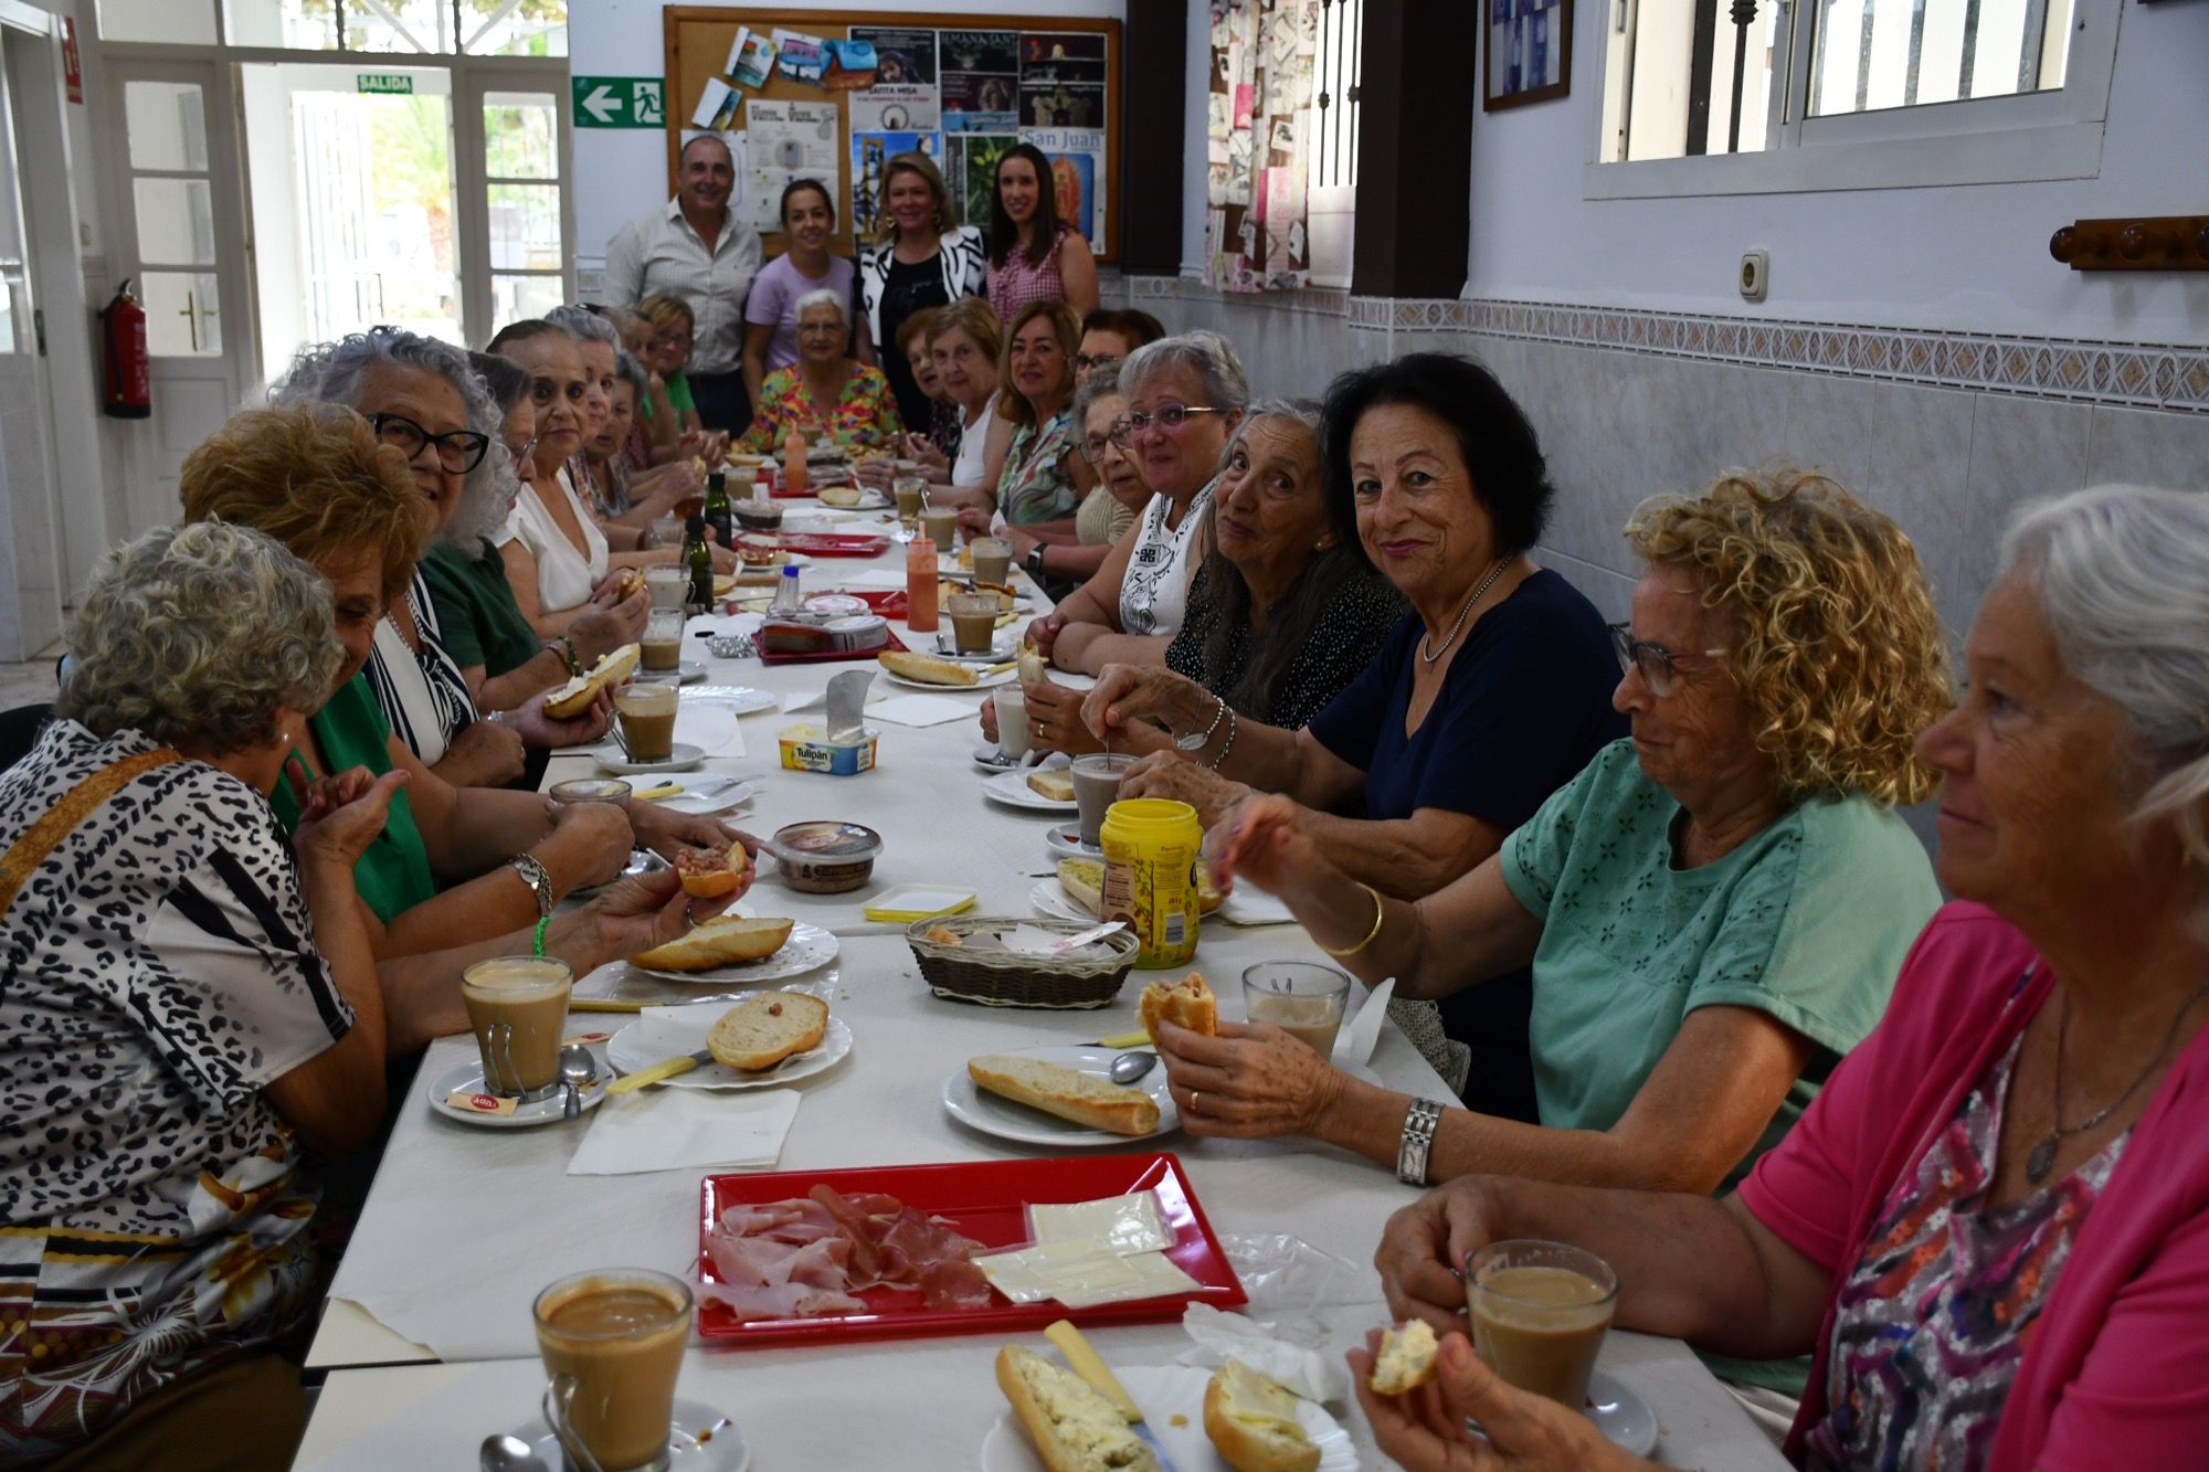
{"type": "MultiPolygon", "coordinates": [[[[384,771],[404,771],[382,835],[356,866],[373,915],[378,975],[387,992],[426,1019],[420,1037],[393,1034],[404,1052],[468,1026],[453,986],[459,968],[490,955],[528,953],[535,926],[570,891],[621,873],[636,842],[669,858],[691,844],[727,849],[740,838],[709,818],[583,802],[548,813],[539,793],[451,787],[391,736],[360,681],[376,623],[404,588],[429,528],[402,451],[380,444],[351,409],[303,404],[247,409],[183,460],[188,522],[221,519],[283,542],[329,579],[347,663],[327,705],[307,718],[285,785],[272,805],[296,822],[300,807],[342,800],[384,771]],[[437,891],[444,880],[451,889],[437,891]]],[[[742,886],[740,886],[742,889],[742,886]]],[[[577,975],[658,944],[685,926],[672,875],[623,884],[548,924],[543,950],[577,975]]]]}

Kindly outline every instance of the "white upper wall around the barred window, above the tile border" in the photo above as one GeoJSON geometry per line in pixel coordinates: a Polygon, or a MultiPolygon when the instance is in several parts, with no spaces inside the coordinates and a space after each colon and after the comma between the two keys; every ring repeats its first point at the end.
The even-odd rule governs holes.
{"type": "Polygon", "coordinates": [[[2123,4],[2099,179],[1584,199],[1608,9],[1577,7],[1571,97],[1473,117],[1467,296],[2209,340],[2209,274],[2072,272],[2048,256],[2072,219],[2209,208],[2209,4],[2123,4]],[[1761,307],[1734,290],[1754,248],[1772,252],[1761,307]]]}

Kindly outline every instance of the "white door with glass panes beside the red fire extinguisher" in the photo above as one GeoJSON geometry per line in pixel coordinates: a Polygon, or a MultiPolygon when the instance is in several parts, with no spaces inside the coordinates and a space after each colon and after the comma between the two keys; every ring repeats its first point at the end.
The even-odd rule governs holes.
{"type": "Polygon", "coordinates": [[[126,475],[135,535],[177,519],[186,453],[241,407],[261,365],[230,69],[110,53],[106,73],[108,117],[124,119],[113,256],[146,307],[152,358],[152,420],[130,435],[126,475]]]}

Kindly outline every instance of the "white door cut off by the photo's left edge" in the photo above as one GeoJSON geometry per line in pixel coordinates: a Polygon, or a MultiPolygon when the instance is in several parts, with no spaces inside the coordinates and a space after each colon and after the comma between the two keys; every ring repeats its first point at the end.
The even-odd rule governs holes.
{"type": "Polygon", "coordinates": [[[27,230],[22,130],[15,124],[15,38],[0,27],[0,661],[22,661],[62,632],[60,475],[46,389],[46,323],[40,314],[27,230]]]}

